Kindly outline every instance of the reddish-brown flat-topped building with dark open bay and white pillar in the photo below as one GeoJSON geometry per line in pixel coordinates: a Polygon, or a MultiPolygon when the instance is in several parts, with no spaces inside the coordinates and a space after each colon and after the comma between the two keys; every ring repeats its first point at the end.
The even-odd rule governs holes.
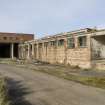
{"type": "Polygon", "coordinates": [[[18,45],[33,39],[33,34],[0,32],[0,58],[18,58],[18,45]]]}

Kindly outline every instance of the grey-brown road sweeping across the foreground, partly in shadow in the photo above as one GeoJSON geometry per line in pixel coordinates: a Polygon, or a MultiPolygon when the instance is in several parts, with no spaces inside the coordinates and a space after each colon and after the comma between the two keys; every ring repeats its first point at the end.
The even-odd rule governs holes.
{"type": "Polygon", "coordinates": [[[14,105],[105,105],[102,89],[4,64],[0,73],[8,77],[14,105]]]}

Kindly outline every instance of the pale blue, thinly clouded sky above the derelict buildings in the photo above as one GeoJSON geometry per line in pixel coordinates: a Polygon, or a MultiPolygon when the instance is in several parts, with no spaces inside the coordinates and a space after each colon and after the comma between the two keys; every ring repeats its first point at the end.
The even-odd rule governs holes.
{"type": "Polygon", "coordinates": [[[37,37],[105,27],[105,0],[0,0],[0,31],[37,37]]]}

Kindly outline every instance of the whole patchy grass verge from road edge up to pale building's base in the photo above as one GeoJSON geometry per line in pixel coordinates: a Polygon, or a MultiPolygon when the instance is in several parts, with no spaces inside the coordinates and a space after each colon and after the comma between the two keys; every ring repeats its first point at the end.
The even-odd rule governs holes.
{"type": "MultiPolygon", "coordinates": [[[[9,62],[9,64],[17,64],[16,62],[13,61],[13,63],[9,62]]],[[[17,64],[18,65],[18,64],[17,64]]],[[[50,75],[54,75],[60,78],[64,78],[67,80],[72,80],[81,84],[85,84],[88,86],[94,86],[94,87],[99,87],[99,88],[103,88],[105,89],[105,77],[92,77],[92,76],[82,76],[82,75],[74,75],[71,73],[71,71],[68,71],[68,69],[71,70],[75,70],[78,71],[80,70],[80,68],[78,66],[64,66],[64,65],[60,65],[60,66],[56,66],[53,65],[53,68],[47,68],[46,65],[41,64],[41,65],[33,65],[33,67],[31,67],[30,65],[27,65],[24,63],[24,65],[19,65],[19,67],[23,67],[23,68],[29,68],[29,69],[33,69],[36,71],[40,71],[40,72],[44,72],[50,75]],[[34,68],[35,67],[35,68],[34,68]]],[[[91,69],[84,69],[84,71],[90,71],[91,69]]]]}

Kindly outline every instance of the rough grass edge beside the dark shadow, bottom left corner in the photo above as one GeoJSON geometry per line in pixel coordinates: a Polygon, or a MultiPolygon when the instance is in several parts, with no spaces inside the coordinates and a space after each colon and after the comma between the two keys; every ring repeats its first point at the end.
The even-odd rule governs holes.
{"type": "Polygon", "coordinates": [[[10,105],[6,79],[0,77],[0,105],[10,105]]]}

